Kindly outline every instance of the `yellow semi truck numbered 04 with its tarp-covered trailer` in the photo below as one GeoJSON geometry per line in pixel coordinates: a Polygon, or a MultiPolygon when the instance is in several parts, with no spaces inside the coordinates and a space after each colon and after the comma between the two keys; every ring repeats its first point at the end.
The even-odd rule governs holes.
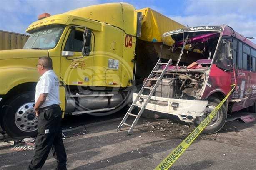
{"type": "Polygon", "coordinates": [[[103,116],[132,99],[158,58],[171,57],[163,46],[164,32],[185,27],[160,13],[136,10],[127,3],[78,8],[63,14],[44,13],[28,26],[23,49],[0,51],[0,123],[9,136],[35,136],[38,118],[35,64],[53,59],[60,80],[65,114],[103,116]]]}

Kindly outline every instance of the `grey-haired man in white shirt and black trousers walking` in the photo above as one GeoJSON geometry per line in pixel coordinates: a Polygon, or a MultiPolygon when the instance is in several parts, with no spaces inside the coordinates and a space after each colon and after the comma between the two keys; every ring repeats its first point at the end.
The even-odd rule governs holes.
{"type": "Polygon", "coordinates": [[[59,106],[59,80],[53,72],[50,57],[40,57],[36,64],[40,80],[35,88],[35,114],[38,116],[38,136],[35,142],[35,155],[27,170],[40,170],[50,150],[57,160],[55,170],[66,170],[67,155],[61,135],[61,115],[59,106]]]}

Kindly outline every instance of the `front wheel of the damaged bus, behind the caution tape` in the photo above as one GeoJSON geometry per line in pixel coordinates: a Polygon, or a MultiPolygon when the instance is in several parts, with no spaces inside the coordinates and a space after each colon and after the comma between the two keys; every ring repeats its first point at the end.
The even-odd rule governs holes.
{"type": "MultiPolygon", "coordinates": [[[[194,122],[191,123],[191,126],[193,126],[194,128],[200,125],[200,123],[213,111],[213,109],[216,108],[219,103],[221,103],[221,101],[216,97],[209,97],[208,101],[209,102],[204,109],[203,116],[197,117],[194,122]]],[[[227,109],[224,105],[222,105],[218,112],[215,114],[215,116],[208,123],[208,125],[204,128],[203,133],[211,134],[218,132],[226,123],[226,119],[227,109]]]]}

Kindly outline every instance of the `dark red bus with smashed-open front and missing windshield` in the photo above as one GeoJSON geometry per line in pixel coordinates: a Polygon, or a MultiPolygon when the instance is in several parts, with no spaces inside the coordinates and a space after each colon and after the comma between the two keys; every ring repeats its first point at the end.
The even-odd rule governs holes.
{"type": "MultiPolygon", "coordinates": [[[[256,44],[228,25],[182,28],[164,33],[162,39],[170,46],[170,54],[161,59],[171,58],[172,64],[156,71],[157,78],[158,72],[168,67],[144,117],[159,118],[167,113],[196,127],[228,94],[231,84],[236,84],[236,89],[203,132],[221,130],[228,111],[248,108],[256,112],[256,44]]],[[[145,90],[138,105],[143,105],[147,94],[145,90]]]]}

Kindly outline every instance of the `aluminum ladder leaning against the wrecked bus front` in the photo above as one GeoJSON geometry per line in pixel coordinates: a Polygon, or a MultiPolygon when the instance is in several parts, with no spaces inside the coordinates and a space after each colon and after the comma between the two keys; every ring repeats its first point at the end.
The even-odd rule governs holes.
{"type": "Polygon", "coordinates": [[[172,62],[172,59],[169,59],[168,63],[161,63],[161,60],[159,59],[158,62],[156,63],[155,67],[153,68],[153,70],[151,71],[151,74],[148,76],[147,80],[145,81],[145,83],[143,84],[141,90],[139,91],[138,93],[138,96],[136,97],[136,99],[134,99],[133,103],[131,104],[130,108],[128,109],[127,113],[125,114],[123,120],[121,121],[120,125],[118,126],[117,128],[117,131],[120,131],[122,126],[125,125],[125,126],[130,126],[130,129],[128,130],[128,135],[131,135],[131,132],[133,131],[133,128],[134,126],[136,125],[136,123],[138,122],[139,118],[141,117],[141,114],[143,113],[146,105],[148,104],[151,96],[154,94],[154,92],[156,91],[156,88],[158,87],[160,81],[163,79],[163,75],[166,73],[167,69],[168,69],[168,66],[171,65],[171,62],[172,62]],[[160,65],[166,65],[166,67],[163,69],[163,70],[157,70],[158,67],[160,65]],[[158,77],[158,79],[152,79],[153,75],[155,73],[161,73],[160,76],[158,77]],[[153,87],[146,87],[146,85],[148,84],[149,81],[156,81],[155,85],[153,87]],[[146,101],[144,100],[144,103],[143,105],[138,105],[136,104],[137,101],[140,99],[140,97],[142,96],[142,93],[145,89],[150,89],[150,94],[148,95],[148,98],[146,99],[146,101]],[[138,114],[133,114],[131,113],[131,111],[133,111],[133,108],[135,106],[141,106],[138,114]],[[125,121],[127,120],[127,118],[129,116],[133,116],[135,117],[133,123],[130,125],[130,124],[127,124],[125,123],[125,121]]]}

